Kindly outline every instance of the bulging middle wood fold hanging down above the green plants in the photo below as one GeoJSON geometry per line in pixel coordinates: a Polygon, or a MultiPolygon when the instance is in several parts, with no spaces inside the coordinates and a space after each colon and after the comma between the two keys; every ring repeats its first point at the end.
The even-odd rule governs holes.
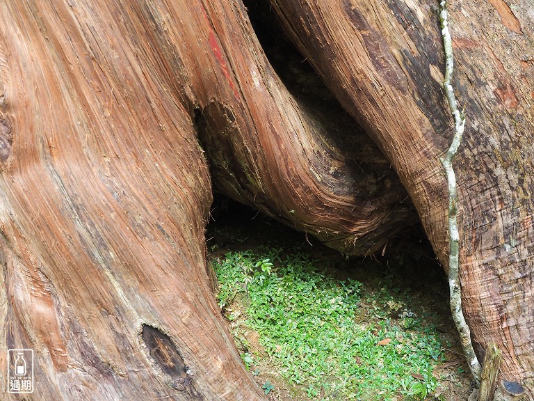
{"type": "MultiPolygon", "coordinates": [[[[225,23],[214,24],[216,39],[209,33],[213,69],[232,73],[193,88],[215,187],[344,253],[381,250],[416,221],[391,163],[355,123],[337,124],[339,114],[321,116],[291,95],[243,8],[222,5],[225,23]]],[[[212,62],[204,43],[195,46],[196,63],[212,62]]]]}

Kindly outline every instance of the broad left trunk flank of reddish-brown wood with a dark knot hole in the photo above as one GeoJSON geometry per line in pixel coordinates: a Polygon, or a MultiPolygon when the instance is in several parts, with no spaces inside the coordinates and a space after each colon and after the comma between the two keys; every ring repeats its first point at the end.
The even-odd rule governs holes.
{"type": "Polygon", "coordinates": [[[214,11],[167,6],[0,3],[0,371],[34,349],[33,400],[264,399],[206,273],[214,11]]]}

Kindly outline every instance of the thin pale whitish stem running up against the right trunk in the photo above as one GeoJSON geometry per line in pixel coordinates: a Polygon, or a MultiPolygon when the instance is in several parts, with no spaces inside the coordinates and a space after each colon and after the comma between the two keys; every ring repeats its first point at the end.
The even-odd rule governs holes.
{"type": "Polygon", "coordinates": [[[448,31],[447,23],[447,9],[446,1],[439,3],[440,13],[439,19],[442,22],[442,36],[443,45],[445,49],[445,81],[443,83],[445,93],[447,95],[448,106],[451,109],[451,114],[454,118],[455,133],[451,147],[448,148],[444,157],[440,160],[446,173],[448,183],[448,240],[449,240],[449,254],[448,254],[448,285],[451,290],[451,312],[453,313],[453,320],[456,324],[456,329],[460,333],[460,342],[464,351],[469,369],[477,384],[480,384],[480,363],[476,358],[476,354],[471,343],[471,333],[469,327],[465,322],[464,314],[462,312],[462,293],[460,289],[460,279],[458,278],[459,257],[458,251],[460,248],[460,235],[458,234],[458,220],[457,203],[458,193],[456,192],[456,175],[453,169],[453,159],[462,141],[462,134],[465,127],[465,116],[458,110],[458,104],[454,95],[454,88],[452,86],[453,78],[453,46],[451,40],[451,33],[448,31]]]}

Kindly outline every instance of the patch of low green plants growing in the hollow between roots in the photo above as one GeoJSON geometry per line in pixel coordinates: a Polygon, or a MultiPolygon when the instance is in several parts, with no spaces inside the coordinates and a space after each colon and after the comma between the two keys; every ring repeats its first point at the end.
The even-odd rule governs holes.
{"type": "MultiPolygon", "coordinates": [[[[219,306],[252,375],[270,365],[310,400],[423,400],[436,392],[439,333],[407,308],[409,289],[338,280],[299,251],[231,251],[211,262],[219,306]]],[[[277,388],[268,382],[264,390],[277,388]]]]}

